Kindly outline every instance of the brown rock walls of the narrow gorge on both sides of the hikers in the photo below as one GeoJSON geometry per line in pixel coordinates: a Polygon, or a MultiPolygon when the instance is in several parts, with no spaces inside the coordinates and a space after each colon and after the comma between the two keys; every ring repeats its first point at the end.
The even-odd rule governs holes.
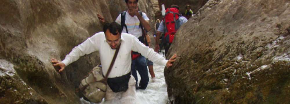
{"type": "MultiPolygon", "coordinates": [[[[164,69],[168,103],[289,103],[289,0],[139,0],[149,34],[161,4],[194,12],[166,57],[178,55],[164,69]]],[[[124,0],[1,0],[0,7],[0,104],[80,104],[75,88],[99,64],[98,52],[61,73],[50,59],[63,60],[102,31],[97,13],[112,22],[127,9],[124,0]]]]}

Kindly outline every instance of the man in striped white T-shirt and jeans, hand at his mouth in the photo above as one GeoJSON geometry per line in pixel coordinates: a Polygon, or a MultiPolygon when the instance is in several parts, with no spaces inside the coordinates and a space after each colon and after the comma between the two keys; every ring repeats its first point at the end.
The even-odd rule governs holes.
{"type": "MultiPolygon", "coordinates": [[[[144,27],[146,31],[150,31],[151,29],[150,24],[149,24],[149,18],[146,16],[144,12],[138,11],[138,0],[125,0],[125,2],[128,7],[128,10],[125,11],[125,16],[123,16],[123,18],[125,18],[124,26],[122,25],[122,21],[121,21],[122,14],[119,14],[115,22],[119,23],[121,27],[123,26],[122,27],[123,33],[132,34],[136,38],[139,38],[139,40],[143,39],[144,37],[143,38],[141,37],[142,32],[143,32],[142,27],[144,27]]],[[[138,53],[133,52],[133,54],[138,54],[138,53]]],[[[142,55],[139,55],[137,59],[132,60],[131,71],[132,71],[132,75],[134,76],[136,80],[136,89],[145,90],[149,82],[146,58],[142,55]],[[141,77],[139,86],[138,86],[138,77],[137,77],[136,70],[138,70],[139,75],[141,77]]]]}

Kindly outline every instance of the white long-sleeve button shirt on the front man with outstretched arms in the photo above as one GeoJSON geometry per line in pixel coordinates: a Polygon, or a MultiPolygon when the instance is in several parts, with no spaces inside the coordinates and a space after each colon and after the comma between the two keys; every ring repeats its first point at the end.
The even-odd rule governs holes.
{"type": "MultiPolygon", "coordinates": [[[[121,34],[121,48],[109,74],[109,78],[119,77],[131,71],[131,50],[141,53],[144,57],[152,62],[166,66],[168,60],[154,52],[153,49],[146,47],[135,36],[127,33],[121,34]]],[[[77,47],[66,55],[62,61],[66,66],[79,59],[79,57],[90,54],[94,51],[99,51],[102,63],[103,74],[106,75],[108,68],[113,59],[115,49],[111,49],[110,45],[106,42],[104,32],[99,32],[92,37],[79,44],[77,47]]]]}

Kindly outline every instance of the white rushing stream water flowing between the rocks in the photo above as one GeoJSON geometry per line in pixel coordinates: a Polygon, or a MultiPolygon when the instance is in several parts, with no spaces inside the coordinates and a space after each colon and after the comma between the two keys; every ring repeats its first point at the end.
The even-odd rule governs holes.
{"type": "MultiPolygon", "coordinates": [[[[160,54],[163,55],[163,54],[160,54]]],[[[164,79],[164,67],[163,65],[153,64],[153,69],[155,73],[155,81],[153,82],[151,79],[151,75],[148,72],[149,83],[146,90],[136,90],[136,104],[167,104],[168,96],[167,96],[167,85],[164,79]]],[[[140,82],[140,75],[138,74],[138,83],[140,82]]],[[[81,99],[83,104],[89,104],[81,99]]],[[[113,102],[104,102],[100,104],[119,104],[122,101],[114,100],[113,102]]]]}

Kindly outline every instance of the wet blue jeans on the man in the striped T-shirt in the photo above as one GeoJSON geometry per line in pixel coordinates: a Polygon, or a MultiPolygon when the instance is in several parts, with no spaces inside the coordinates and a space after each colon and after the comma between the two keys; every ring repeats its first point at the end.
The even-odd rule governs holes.
{"type": "Polygon", "coordinates": [[[148,77],[147,63],[144,56],[140,55],[140,57],[137,58],[136,60],[132,60],[131,71],[132,71],[133,77],[136,80],[136,89],[145,90],[149,82],[149,77],[148,77]],[[138,77],[137,77],[136,70],[138,70],[139,75],[141,77],[139,87],[138,87],[138,77]]]}

